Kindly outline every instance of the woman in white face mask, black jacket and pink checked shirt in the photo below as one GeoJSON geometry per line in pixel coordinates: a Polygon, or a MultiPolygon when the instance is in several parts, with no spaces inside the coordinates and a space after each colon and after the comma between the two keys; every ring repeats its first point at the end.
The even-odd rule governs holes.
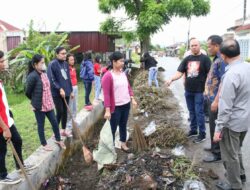
{"type": "Polygon", "coordinates": [[[47,144],[44,135],[45,116],[49,119],[52,130],[55,135],[55,143],[61,148],[66,149],[59,132],[59,126],[54,113],[54,102],[51,95],[50,81],[45,73],[46,65],[42,55],[34,55],[29,64],[29,74],[26,82],[26,96],[31,100],[34,111],[38,135],[41,145],[46,151],[52,151],[53,148],[47,144]]]}

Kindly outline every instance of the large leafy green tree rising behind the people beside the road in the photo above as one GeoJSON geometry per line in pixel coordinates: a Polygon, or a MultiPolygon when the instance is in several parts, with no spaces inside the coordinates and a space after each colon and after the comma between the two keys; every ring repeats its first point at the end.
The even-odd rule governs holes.
{"type": "Polygon", "coordinates": [[[127,18],[110,16],[101,24],[101,31],[125,37],[127,35],[130,39],[137,37],[145,52],[149,49],[150,36],[168,24],[172,17],[205,16],[210,11],[210,3],[208,0],[99,0],[99,9],[106,14],[124,9],[127,18]],[[136,22],[135,30],[124,27],[126,20],[136,22]]]}

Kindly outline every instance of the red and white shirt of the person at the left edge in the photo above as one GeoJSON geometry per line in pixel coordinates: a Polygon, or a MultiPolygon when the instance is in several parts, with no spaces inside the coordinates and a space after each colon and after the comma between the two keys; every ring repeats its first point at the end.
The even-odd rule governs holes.
{"type": "MultiPolygon", "coordinates": [[[[0,80],[0,116],[3,122],[8,127],[11,127],[14,124],[14,120],[10,117],[9,105],[8,105],[6,93],[3,87],[3,83],[1,80],[0,80]]],[[[2,128],[0,128],[0,133],[2,132],[3,130],[2,128]]]]}

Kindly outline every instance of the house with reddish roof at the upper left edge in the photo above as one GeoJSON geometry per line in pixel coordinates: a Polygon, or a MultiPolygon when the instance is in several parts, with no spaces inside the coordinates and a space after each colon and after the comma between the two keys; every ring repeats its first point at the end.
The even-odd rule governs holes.
{"type": "Polygon", "coordinates": [[[0,50],[12,50],[23,41],[23,37],[24,32],[21,29],[0,20],[0,50]]]}

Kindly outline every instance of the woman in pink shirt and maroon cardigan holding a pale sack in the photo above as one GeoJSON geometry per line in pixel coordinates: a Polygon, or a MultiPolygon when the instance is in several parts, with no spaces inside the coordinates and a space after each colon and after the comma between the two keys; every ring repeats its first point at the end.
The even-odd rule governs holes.
{"type": "Polygon", "coordinates": [[[126,145],[127,121],[130,110],[130,103],[137,106],[133,91],[128,82],[127,76],[122,71],[124,58],[121,52],[114,52],[110,56],[112,69],[107,71],[102,78],[102,88],[104,96],[105,115],[104,118],[110,120],[113,140],[119,125],[121,149],[129,152],[126,145]]]}

